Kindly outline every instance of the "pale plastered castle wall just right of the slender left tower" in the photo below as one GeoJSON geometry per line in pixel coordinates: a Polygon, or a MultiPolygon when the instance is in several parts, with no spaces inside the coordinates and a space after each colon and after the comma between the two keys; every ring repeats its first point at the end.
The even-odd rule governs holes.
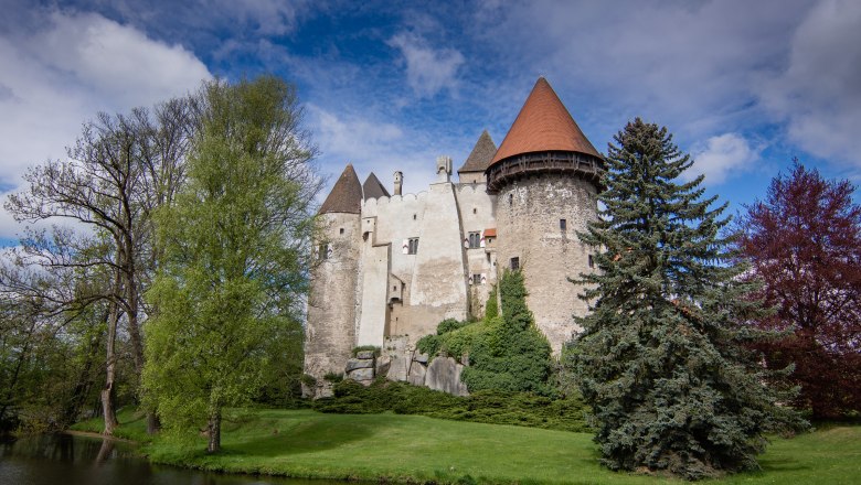
{"type": "Polygon", "coordinates": [[[361,271],[372,284],[361,285],[359,335],[366,337],[360,337],[360,345],[382,346],[390,335],[408,336],[414,343],[433,333],[442,320],[467,316],[466,262],[454,184],[436,183],[418,194],[368,200],[362,219],[369,234],[361,271]],[[411,238],[418,238],[416,254],[404,248],[411,238]],[[382,254],[366,256],[382,245],[390,248],[387,259],[382,254]],[[385,288],[379,283],[384,272],[385,288]],[[384,304],[387,312],[365,314],[365,304],[384,304]]]}

